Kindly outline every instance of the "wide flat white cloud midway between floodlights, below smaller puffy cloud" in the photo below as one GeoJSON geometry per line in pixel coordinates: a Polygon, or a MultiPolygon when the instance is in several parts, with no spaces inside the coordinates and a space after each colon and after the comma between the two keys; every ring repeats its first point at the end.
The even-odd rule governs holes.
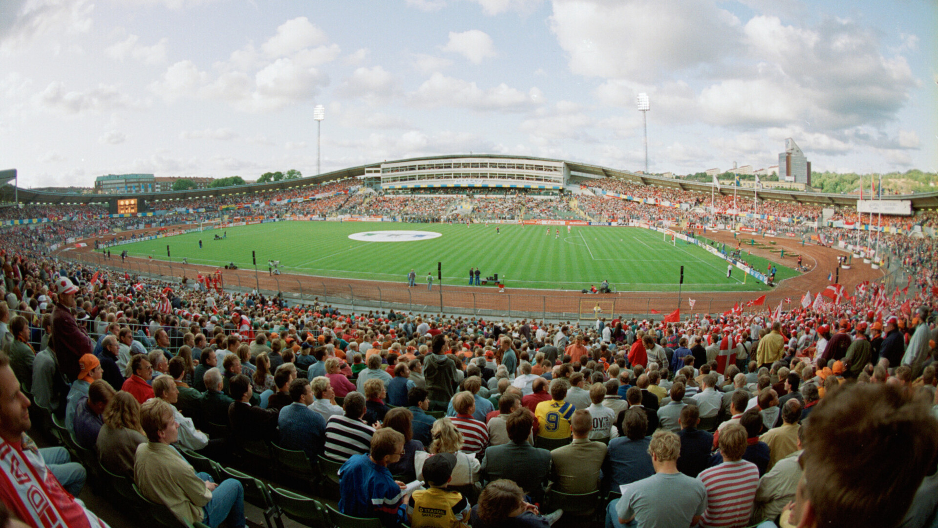
{"type": "Polygon", "coordinates": [[[483,90],[475,82],[434,73],[409,97],[414,104],[424,108],[453,106],[477,111],[522,112],[539,104],[543,94],[537,87],[524,93],[504,83],[483,90]]]}

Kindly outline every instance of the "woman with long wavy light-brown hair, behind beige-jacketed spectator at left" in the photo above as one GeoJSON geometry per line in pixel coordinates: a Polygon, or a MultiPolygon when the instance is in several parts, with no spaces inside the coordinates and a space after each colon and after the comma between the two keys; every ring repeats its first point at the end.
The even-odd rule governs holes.
{"type": "Polygon", "coordinates": [[[104,408],[104,426],[98,432],[98,459],[113,474],[133,478],[137,446],[146,443],[140,424],[140,402],[128,392],[118,391],[104,408]]]}

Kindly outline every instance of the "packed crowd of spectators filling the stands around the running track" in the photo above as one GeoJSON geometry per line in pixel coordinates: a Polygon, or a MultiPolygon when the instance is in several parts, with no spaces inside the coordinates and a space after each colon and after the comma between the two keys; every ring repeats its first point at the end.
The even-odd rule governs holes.
{"type": "Polygon", "coordinates": [[[885,229],[871,237],[855,208],[568,183],[366,191],[348,178],[165,210],[153,202],[152,216],[0,210],[3,442],[28,432],[59,446],[14,445],[17,463],[42,472],[4,487],[4,504],[36,524],[23,500],[35,483],[68,526],[103,524],[96,513],[114,507],[162,526],[217,525],[219,515],[268,528],[281,516],[310,526],[631,526],[636,516],[642,526],[790,526],[792,502],[819,526],[933,525],[938,215],[873,218],[885,229]],[[352,216],[719,225],[865,248],[908,280],[831,284],[778,310],[583,323],[353,311],[56,252],[141,228],[352,216]],[[194,496],[181,491],[192,467],[194,496]],[[362,480],[371,496],[350,491],[362,480]],[[74,500],[84,488],[113,506],[74,500]],[[230,511],[206,506],[213,490],[230,511]]]}

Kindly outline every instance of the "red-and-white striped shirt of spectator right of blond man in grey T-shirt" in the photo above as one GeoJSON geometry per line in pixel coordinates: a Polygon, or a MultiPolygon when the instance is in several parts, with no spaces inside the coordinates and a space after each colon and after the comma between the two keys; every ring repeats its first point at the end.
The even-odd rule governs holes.
{"type": "Polygon", "coordinates": [[[702,528],[749,525],[752,503],[759,489],[759,468],[755,464],[746,460],[723,462],[703,470],[697,480],[706,488],[702,528]]]}

